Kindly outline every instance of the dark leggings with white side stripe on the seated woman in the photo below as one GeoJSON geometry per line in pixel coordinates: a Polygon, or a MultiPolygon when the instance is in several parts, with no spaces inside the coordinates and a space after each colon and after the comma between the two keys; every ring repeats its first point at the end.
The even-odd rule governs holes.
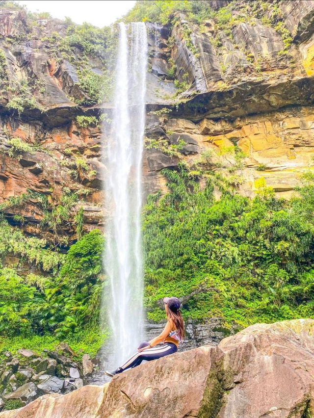
{"type": "Polygon", "coordinates": [[[168,354],[176,353],[177,351],[178,348],[176,344],[173,344],[172,342],[166,342],[163,345],[156,345],[152,348],[148,348],[147,350],[133,354],[121,367],[117,369],[117,371],[118,373],[121,373],[128,368],[140,365],[143,360],[156,360],[160,357],[168,356],[168,354]]]}

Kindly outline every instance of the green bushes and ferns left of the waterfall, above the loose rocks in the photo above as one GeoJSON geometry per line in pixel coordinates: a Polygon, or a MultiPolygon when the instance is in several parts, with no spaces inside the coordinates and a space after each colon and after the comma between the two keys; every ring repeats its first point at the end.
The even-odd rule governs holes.
{"type": "Polygon", "coordinates": [[[13,268],[0,270],[2,336],[32,340],[33,335],[53,335],[54,339],[70,338],[78,342],[86,327],[91,330],[98,328],[104,284],[101,275],[103,235],[100,231],[93,230],[83,235],[63,256],[51,249],[43,249],[43,240],[34,237],[24,238],[24,245],[12,248],[12,243],[18,244],[18,236],[21,239],[23,235],[5,221],[2,221],[1,232],[4,233],[1,234],[1,256],[10,252],[24,254],[25,260],[31,262],[35,254],[30,256],[29,252],[36,253],[37,250],[44,257],[36,261],[46,261],[46,264],[42,263],[43,270],[55,266],[56,261],[60,266],[54,275],[47,277],[34,274],[22,277],[13,268]],[[9,234],[12,235],[11,242],[7,242],[9,234]],[[29,248],[31,244],[34,244],[34,249],[29,248]],[[47,258],[53,263],[47,265],[47,258]]]}

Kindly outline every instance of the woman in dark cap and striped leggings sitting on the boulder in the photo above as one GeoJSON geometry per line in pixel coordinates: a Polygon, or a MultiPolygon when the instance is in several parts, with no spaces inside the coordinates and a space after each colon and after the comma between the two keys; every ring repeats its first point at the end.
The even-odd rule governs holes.
{"type": "Polygon", "coordinates": [[[180,300],[177,297],[165,297],[163,302],[168,321],[162,333],[151,341],[142,342],[138,346],[137,352],[122,366],[113,371],[106,370],[105,374],[112,377],[128,368],[140,365],[143,360],[156,360],[178,351],[179,342],[183,342],[185,336],[184,322],[180,312],[180,300]],[[161,345],[157,346],[158,344],[161,345]]]}

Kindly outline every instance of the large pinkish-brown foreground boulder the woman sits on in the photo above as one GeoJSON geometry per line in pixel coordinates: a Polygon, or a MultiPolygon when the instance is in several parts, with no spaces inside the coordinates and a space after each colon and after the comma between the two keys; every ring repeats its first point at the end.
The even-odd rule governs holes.
{"type": "Polygon", "coordinates": [[[314,320],[252,325],[146,363],[105,386],[45,395],[0,418],[314,416],[314,320]]]}

